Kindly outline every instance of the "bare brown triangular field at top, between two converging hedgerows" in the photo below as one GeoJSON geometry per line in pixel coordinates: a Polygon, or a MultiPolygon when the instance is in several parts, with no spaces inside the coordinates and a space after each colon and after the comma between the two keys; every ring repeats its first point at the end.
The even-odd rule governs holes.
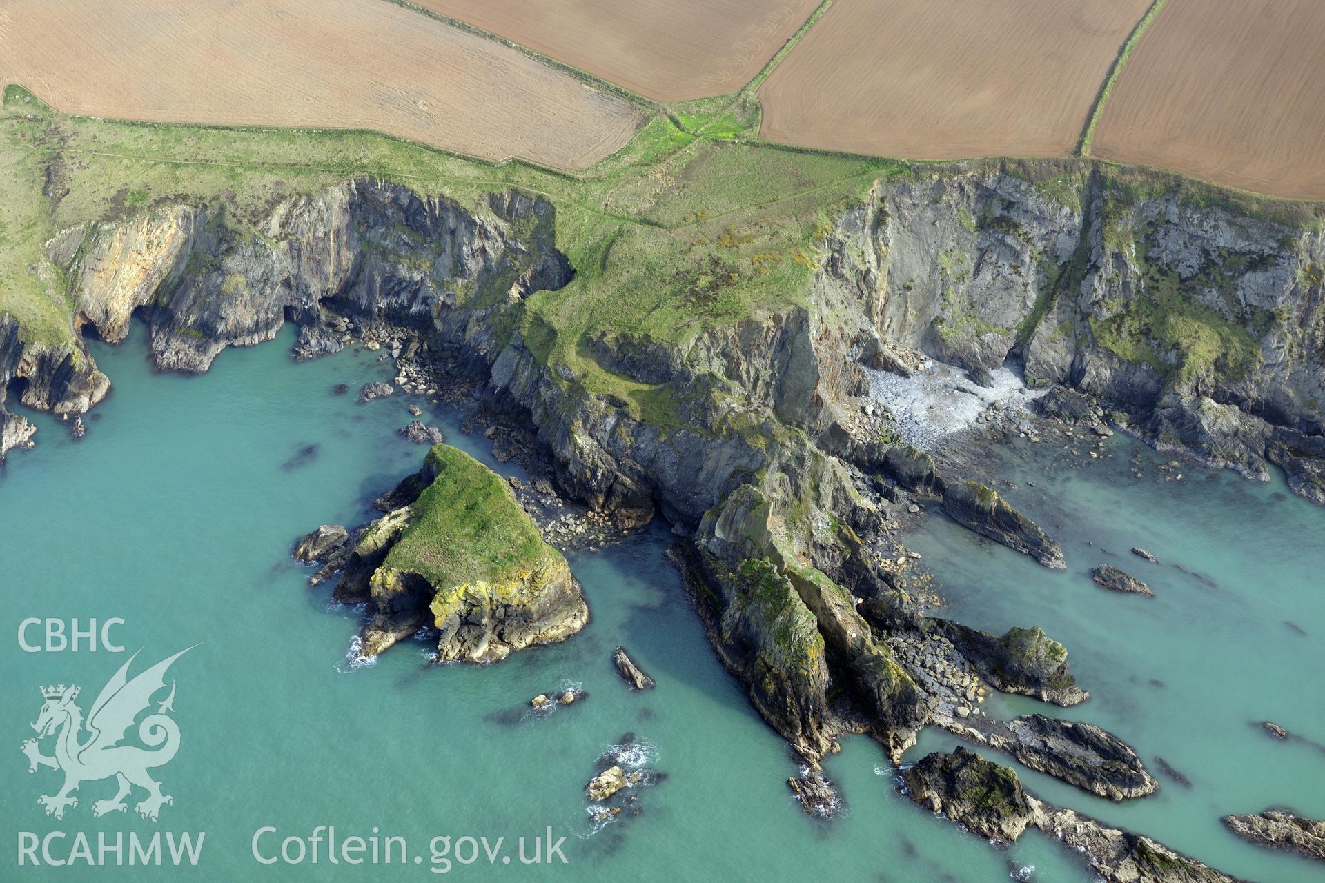
{"type": "Polygon", "coordinates": [[[737,91],[819,0],[412,0],[655,101],[737,91]]]}

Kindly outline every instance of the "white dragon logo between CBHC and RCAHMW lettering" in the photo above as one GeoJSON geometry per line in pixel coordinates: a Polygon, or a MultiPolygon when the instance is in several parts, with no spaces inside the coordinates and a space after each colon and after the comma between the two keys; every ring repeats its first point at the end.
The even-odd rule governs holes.
{"type": "Polygon", "coordinates": [[[37,737],[23,743],[23,753],[28,756],[29,773],[37,772],[37,767],[61,769],[65,773],[64,788],[56,794],[37,798],[37,802],[46,808],[46,815],[64,818],[65,808],[78,806],[78,798],[72,797],[78,785],[110,776],[119,782],[119,792],[110,800],[95,801],[91,805],[93,815],[125,812],[127,809],[125,798],[130,796],[134,785],[147,792],[147,798],[139,801],[136,806],[138,814],[143,818],[155,822],[162,805],[175,802],[168,794],[162,793],[162,784],[147,772],[164,767],[179,751],[179,725],[166,715],[167,711],[175,710],[171,704],[175,702],[174,680],[170,695],[159,704],[156,712],[147,715],[138,724],[139,740],[155,751],[138,745],[121,745],[119,741],[125,739],[138,715],[152,704],[156,691],[166,687],[166,670],[192,649],[180,650],[129,680],[129,666],[138,658],[135,653],[102,687],[97,700],[91,703],[86,724],[82,708],[74,704],[80,687],[65,684],[42,687],[41,695],[46,702],[41,706],[37,723],[32,724],[37,737]],[[80,740],[85,727],[90,735],[86,740],[80,740]],[[58,733],[56,753],[48,757],[41,753],[38,740],[53,733],[58,733]]]}

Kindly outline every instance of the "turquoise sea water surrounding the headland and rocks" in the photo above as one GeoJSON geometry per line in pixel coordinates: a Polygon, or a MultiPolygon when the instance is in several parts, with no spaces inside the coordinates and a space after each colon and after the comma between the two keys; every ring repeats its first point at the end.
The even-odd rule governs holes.
{"type": "MultiPolygon", "coordinates": [[[[0,829],[9,841],[0,876],[425,880],[448,867],[432,860],[429,841],[449,835],[458,850],[445,857],[449,875],[461,879],[1092,879],[1037,834],[995,850],[913,806],[896,793],[884,753],[864,739],[847,740],[827,763],[845,815],[806,817],[786,786],[795,765],[784,743],[714,659],[664,557],[665,526],[571,556],[594,618],[567,643],[476,669],[428,667],[425,645],[407,642],[376,665],[350,666],[358,613],[329,605],[329,589],[307,588],[290,543],[319,523],[370,518],[371,499],[416,469],[424,449],[395,434],[411,420],[407,398],[354,401],[362,383],[390,377],[375,355],[295,364],[286,355],[292,342],[286,330],[278,342],[227,351],[200,377],[155,375],[140,331],[117,348],[95,344],[115,388],[87,437],[74,442],[54,420],[33,416],[37,449],[15,453],[0,475],[0,829]],[[337,383],[351,395],[333,396],[337,383]],[[32,735],[40,687],[78,683],[86,710],[129,654],[25,653],[17,631],[28,617],[122,617],[113,637],[129,651],[142,649],[134,671],[201,642],[171,670],[183,740],[156,770],[174,797],[158,822],[132,808],[94,818],[91,802],[111,796],[111,781],[85,784],[60,822],[37,805],[60,784],[50,769],[29,774],[19,751],[32,735]],[[617,643],[656,690],[624,687],[611,666],[617,643]],[[572,683],[587,692],[580,703],[526,711],[530,696],[572,683]],[[595,830],[583,786],[596,759],[623,743],[665,777],[639,789],[637,817],[595,830]],[[404,837],[411,860],[329,864],[325,847],[315,866],[307,857],[298,866],[253,858],[252,838],[264,826],[278,831],[260,841],[270,857],[281,838],[321,825],[334,825],[342,839],[370,838],[374,827],[404,837]],[[531,855],[547,827],[554,841],[566,838],[567,863],[522,864],[517,839],[527,839],[531,855]],[[68,834],[50,841],[54,858],[68,857],[77,831],[94,853],[98,833],[205,831],[205,842],[197,866],[184,871],[19,866],[21,838],[50,831],[68,834]],[[505,839],[493,863],[480,849],[474,863],[461,864],[465,835],[505,839]]],[[[513,471],[492,461],[486,440],[461,434],[453,413],[419,404],[452,443],[513,471]]],[[[1112,447],[1125,463],[1128,442],[1112,447]]],[[[1023,773],[1027,781],[1043,797],[1136,826],[1230,872],[1318,879],[1304,862],[1234,839],[1218,815],[1273,804],[1325,814],[1325,753],[1275,743],[1248,723],[1271,718],[1325,739],[1325,673],[1313,651],[1325,629],[1325,512],[1281,487],[1207,481],[1196,470],[1175,487],[1110,482],[1118,459],[1080,471],[1043,455],[1011,463],[1019,481],[1034,475],[1039,487],[1008,495],[1064,537],[1072,571],[1049,573],[935,519],[913,547],[939,575],[949,613],[998,630],[1041,624],[1068,645],[1093,692],[1068,714],[1114,729],[1147,761],[1166,757],[1192,786],[1157,773],[1158,796],[1114,806],[1034,773],[1023,773]],[[1061,499],[1041,500],[1041,492],[1061,499]],[[1102,553],[1086,539],[1159,555],[1165,568],[1125,564],[1159,597],[1093,586],[1083,573],[1102,553]]],[[[998,700],[1008,714],[1036,706],[998,700]]],[[[928,735],[913,756],[950,741],[928,735]]]]}

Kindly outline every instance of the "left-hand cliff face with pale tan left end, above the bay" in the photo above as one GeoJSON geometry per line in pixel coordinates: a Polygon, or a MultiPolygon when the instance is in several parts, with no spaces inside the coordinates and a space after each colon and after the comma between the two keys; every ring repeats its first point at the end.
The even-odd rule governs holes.
{"type": "Polygon", "coordinates": [[[252,232],[229,226],[224,208],[172,207],[68,230],[48,250],[76,278],[80,320],[118,342],[140,311],[163,369],[205,371],[227,346],[269,340],[286,318],[299,323],[303,355],[334,352],[343,340],[327,326],[333,310],[482,348],[496,330],[447,324],[449,307],[481,319],[571,275],[551,248],[551,205],[494,193],[485,208],[354,180],[278,205],[252,232]]]}

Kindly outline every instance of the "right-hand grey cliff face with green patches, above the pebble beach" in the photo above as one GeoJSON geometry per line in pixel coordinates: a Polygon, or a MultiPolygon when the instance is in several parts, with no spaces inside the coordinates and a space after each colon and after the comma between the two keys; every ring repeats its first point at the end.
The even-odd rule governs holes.
{"type": "MultiPolygon", "coordinates": [[[[1325,502],[1325,234],[1169,179],[1067,165],[881,183],[822,287],[877,344],[1100,396],[1155,443],[1325,502]],[[1032,175],[1034,176],[1034,175],[1032,175]]],[[[867,335],[868,336],[868,335],[867,335]]],[[[882,364],[888,364],[884,359],[882,364]]]]}

